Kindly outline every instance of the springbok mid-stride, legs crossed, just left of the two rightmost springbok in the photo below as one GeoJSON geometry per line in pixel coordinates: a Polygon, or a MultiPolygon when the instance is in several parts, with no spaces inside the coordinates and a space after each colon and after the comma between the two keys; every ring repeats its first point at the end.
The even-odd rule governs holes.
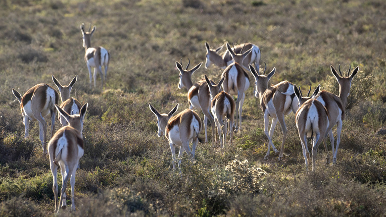
{"type": "Polygon", "coordinates": [[[284,119],[284,116],[289,114],[291,111],[293,113],[296,112],[298,107],[297,98],[293,93],[293,84],[288,81],[282,81],[272,87],[268,88],[268,81],[275,74],[276,68],[273,68],[268,75],[264,75],[265,70],[267,69],[267,65],[265,65],[265,69],[263,74],[259,74],[259,65],[255,65],[255,68],[249,64],[250,71],[252,72],[253,77],[255,78],[255,97],[260,99],[260,107],[264,113],[264,133],[267,136],[268,150],[264,159],[267,160],[270,153],[270,146],[272,146],[273,150],[277,154],[279,151],[276,149],[272,142],[272,136],[276,127],[277,122],[279,121],[282,131],[283,131],[283,141],[279,154],[279,161],[282,161],[284,154],[284,143],[287,137],[287,126],[284,119]],[[269,126],[269,117],[272,117],[271,128],[268,132],[269,126]]]}

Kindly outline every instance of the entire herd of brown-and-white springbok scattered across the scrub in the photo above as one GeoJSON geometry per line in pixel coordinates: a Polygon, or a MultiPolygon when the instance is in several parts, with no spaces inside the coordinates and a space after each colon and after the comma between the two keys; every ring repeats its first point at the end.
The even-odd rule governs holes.
{"type": "MultiPolygon", "coordinates": [[[[107,78],[107,69],[110,60],[108,51],[102,47],[91,47],[91,37],[93,36],[96,27],[89,28],[85,31],[84,25],[80,26],[83,36],[83,47],[85,48],[84,59],[90,75],[90,85],[94,77],[94,88],[96,88],[97,72],[100,74],[102,82],[107,78]],[[101,67],[104,67],[104,75],[101,67]],[[94,68],[94,76],[92,76],[91,68],[94,68]]],[[[207,121],[209,120],[212,126],[212,147],[215,147],[217,142],[217,130],[220,140],[220,150],[224,152],[224,146],[229,136],[230,144],[232,145],[233,132],[241,132],[241,112],[242,105],[245,99],[245,91],[249,88],[250,81],[248,73],[254,77],[253,94],[260,100],[260,108],[264,114],[264,133],[268,138],[268,150],[264,159],[268,159],[270,147],[276,154],[279,155],[278,160],[283,160],[284,144],[287,136],[287,126],[285,123],[285,115],[291,111],[295,114],[295,123],[298,129],[303,156],[308,172],[308,164],[310,161],[310,153],[307,147],[307,138],[311,137],[312,143],[312,171],[315,168],[315,160],[318,146],[323,142],[327,152],[327,163],[329,163],[330,155],[327,148],[327,136],[330,137],[332,146],[333,163],[337,162],[337,153],[340,143],[340,133],[342,128],[342,120],[344,119],[347,97],[350,92],[351,81],[359,70],[357,66],[352,74],[350,69],[346,76],[339,74],[331,65],[331,71],[339,83],[339,96],[328,91],[320,91],[320,85],[315,89],[311,97],[310,90],[306,97],[303,97],[300,87],[289,81],[282,81],[276,85],[268,85],[268,81],[276,72],[274,67],[271,72],[265,75],[267,65],[262,74],[259,73],[259,63],[261,52],[259,47],[251,43],[231,47],[228,43],[217,48],[211,49],[209,44],[205,42],[206,62],[205,68],[212,63],[224,69],[221,74],[221,80],[216,84],[210,80],[207,75],[196,83],[192,81],[192,74],[200,68],[202,62],[198,63],[192,69],[188,69],[190,59],[185,69],[180,62],[176,61],[176,67],[179,70],[178,88],[184,87],[188,90],[189,108],[177,112],[179,105],[177,104],[169,113],[159,113],[150,103],[148,103],[151,112],[157,118],[158,136],[165,135],[169,141],[173,159],[173,170],[176,169],[175,148],[180,147],[178,155],[178,167],[180,168],[181,156],[184,151],[190,156],[193,161],[195,149],[198,141],[208,143],[207,136],[207,121]],[[226,46],[226,52],[220,55],[222,48],[226,46]],[[237,96],[236,101],[233,96],[237,96]],[[201,118],[193,111],[193,109],[201,110],[204,115],[204,133],[205,140],[199,138],[201,131],[201,118]],[[236,114],[235,114],[236,112],[236,114]],[[236,115],[236,117],[235,117],[236,115]],[[239,117],[239,121],[237,118],[239,117]],[[272,117],[270,130],[268,131],[269,118],[272,117]],[[236,120],[235,120],[236,118],[236,120]],[[276,149],[272,142],[272,136],[277,122],[280,122],[283,141],[280,152],[276,149]],[[235,124],[235,126],[234,126],[235,124]],[[229,125],[229,128],[228,128],[229,125]],[[332,128],[337,125],[337,144],[332,128]],[[193,142],[192,149],[189,143],[193,142]]],[[[25,138],[28,137],[29,122],[37,120],[39,122],[39,138],[42,143],[43,153],[48,154],[51,173],[53,176],[52,190],[54,192],[55,212],[59,212],[57,204],[57,168],[60,167],[62,174],[62,188],[59,205],[62,209],[66,208],[66,186],[70,179],[71,184],[71,210],[75,210],[74,202],[74,186],[75,172],[79,167],[79,160],[84,154],[83,146],[83,120],[86,114],[88,104],[83,106],[75,98],[70,98],[71,89],[77,81],[78,76],[72,79],[68,86],[62,86],[60,82],[52,75],[52,81],[58,88],[56,91],[48,84],[37,84],[30,88],[23,96],[15,89],[12,89],[13,95],[20,103],[23,123],[25,126],[25,138]],[[61,105],[58,106],[59,95],[61,105]],[[55,116],[59,112],[58,119],[62,127],[54,133],[55,116]],[[51,139],[47,144],[47,121],[46,118],[51,118],[51,139]]],[[[181,170],[180,170],[181,171],[181,170]]]]}

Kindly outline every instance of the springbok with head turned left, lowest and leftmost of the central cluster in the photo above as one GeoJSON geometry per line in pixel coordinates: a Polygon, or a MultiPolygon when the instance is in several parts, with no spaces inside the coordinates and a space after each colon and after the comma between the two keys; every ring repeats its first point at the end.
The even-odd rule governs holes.
{"type": "Polygon", "coordinates": [[[181,156],[184,151],[193,161],[197,143],[198,141],[202,142],[201,139],[198,138],[198,134],[201,130],[201,119],[198,114],[191,109],[185,109],[178,113],[176,116],[173,116],[173,114],[178,109],[178,104],[168,114],[160,114],[157,109],[151,106],[150,103],[149,107],[151,112],[153,112],[157,117],[158,137],[162,137],[165,134],[169,141],[173,158],[173,170],[176,169],[176,146],[180,147],[180,152],[178,154],[179,169],[181,164],[181,156]],[[190,141],[193,141],[192,151],[189,148],[190,141]]]}

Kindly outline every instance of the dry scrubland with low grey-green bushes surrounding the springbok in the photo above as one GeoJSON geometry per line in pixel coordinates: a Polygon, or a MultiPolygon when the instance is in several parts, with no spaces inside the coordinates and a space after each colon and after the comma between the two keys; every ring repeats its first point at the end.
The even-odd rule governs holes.
{"type": "MultiPolygon", "coordinates": [[[[77,211],[63,216],[385,216],[386,136],[375,134],[386,120],[385,10],[383,0],[2,0],[0,216],[53,214],[39,126],[32,123],[24,140],[11,92],[54,86],[52,74],[62,84],[78,74],[72,96],[89,103],[77,211]],[[99,76],[97,89],[89,85],[81,23],[97,26],[92,45],[111,55],[103,90],[99,76]],[[233,146],[222,155],[211,143],[199,144],[196,162],[185,154],[182,174],[172,171],[168,142],[156,136],[147,103],[160,112],[176,103],[179,111],[188,107],[187,91],[177,88],[175,61],[204,61],[205,41],[213,48],[226,41],[256,44],[267,70],[277,69],[270,83],[321,84],[335,94],[330,65],[341,64],[344,73],[349,64],[359,65],[338,163],[326,165],[321,146],[316,171],[306,174],[293,114],[286,117],[284,161],[273,153],[264,161],[268,140],[250,87],[233,146]]],[[[221,72],[201,66],[193,81],[206,74],[217,82],[221,72]]],[[[273,140],[280,146],[279,125],[273,140]]],[[[60,174],[58,179],[60,189],[60,174]]],[[[68,185],[68,204],[70,195],[68,185]]]]}

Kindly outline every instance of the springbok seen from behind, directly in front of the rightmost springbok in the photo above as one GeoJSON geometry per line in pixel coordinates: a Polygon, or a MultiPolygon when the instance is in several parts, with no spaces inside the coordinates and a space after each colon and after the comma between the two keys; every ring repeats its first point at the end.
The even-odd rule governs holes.
{"type": "MultiPolygon", "coordinates": [[[[296,127],[299,132],[303,156],[308,172],[308,164],[310,163],[310,152],[307,147],[307,137],[312,140],[312,171],[315,169],[316,153],[318,147],[327,133],[329,126],[329,113],[327,109],[315,99],[319,92],[320,85],[315,89],[311,98],[304,102],[301,92],[293,85],[293,91],[298,99],[299,105],[304,102],[296,111],[296,127]]],[[[327,148],[325,146],[325,148],[327,148]]]]}

